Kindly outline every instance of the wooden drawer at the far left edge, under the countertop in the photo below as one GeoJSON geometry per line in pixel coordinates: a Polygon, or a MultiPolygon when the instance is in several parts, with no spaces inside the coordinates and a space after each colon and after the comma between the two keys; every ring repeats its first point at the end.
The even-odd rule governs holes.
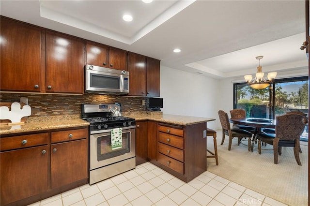
{"type": "Polygon", "coordinates": [[[33,147],[38,145],[47,145],[48,133],[20,135],[13,137],[2,137],[0,139],[1,151],[18,149],[24,147],[33,147]]]}

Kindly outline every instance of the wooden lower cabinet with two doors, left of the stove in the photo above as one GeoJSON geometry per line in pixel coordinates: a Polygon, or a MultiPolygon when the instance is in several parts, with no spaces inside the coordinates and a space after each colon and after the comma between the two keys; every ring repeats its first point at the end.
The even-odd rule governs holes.
{"type": "Polygon", "coordinates": [[[1,135],[0,205],[30,205],[87,184],[88,135],[88,126],[1,135]]]}

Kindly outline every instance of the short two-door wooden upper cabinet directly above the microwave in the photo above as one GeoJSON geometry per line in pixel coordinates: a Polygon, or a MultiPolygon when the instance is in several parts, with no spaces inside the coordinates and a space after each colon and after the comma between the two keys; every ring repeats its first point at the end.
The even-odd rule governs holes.
{"type": "Polygon", "coordinates": [[[127,51],[87,41],[86,63],[127,71],[127,51]]]}

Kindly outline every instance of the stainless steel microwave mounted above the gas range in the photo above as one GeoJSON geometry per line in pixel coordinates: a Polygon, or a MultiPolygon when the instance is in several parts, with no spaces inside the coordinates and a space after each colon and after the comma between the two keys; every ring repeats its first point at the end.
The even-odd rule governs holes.
{"type": "Polygon", "coordinates": [[[104,94],[129,93],[129,72],[86,64],[85,91],[104,94]]]}

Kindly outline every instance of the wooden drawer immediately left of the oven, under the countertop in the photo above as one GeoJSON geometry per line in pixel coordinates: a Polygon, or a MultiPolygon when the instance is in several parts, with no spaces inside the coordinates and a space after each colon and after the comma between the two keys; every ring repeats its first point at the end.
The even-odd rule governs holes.
{"type": "Polygon", "coordinates": [[[66,130],[60,132],[52,132],[51,133],[51,140],[52,143],[56,142],[65,142],[77,139],[84,139],[87,138],[88,131],[87,128],[78,129],[78,130],[66,130]]]}

